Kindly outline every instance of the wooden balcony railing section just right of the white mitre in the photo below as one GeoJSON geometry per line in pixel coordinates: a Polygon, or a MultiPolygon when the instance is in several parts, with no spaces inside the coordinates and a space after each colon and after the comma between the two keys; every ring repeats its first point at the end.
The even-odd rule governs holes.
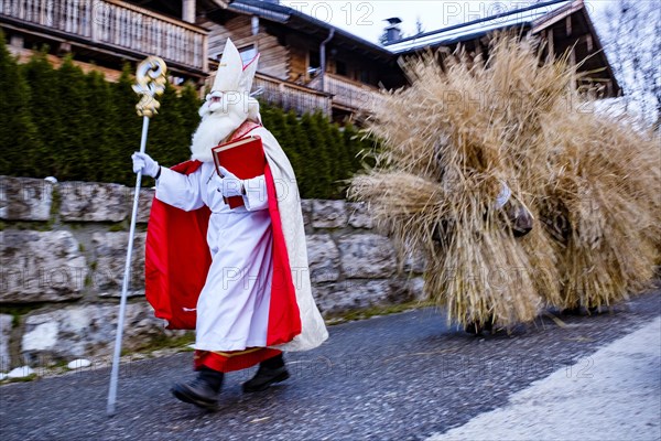
{"type": "Polygon", "coordinates": [[[330,116],[330,97],[308,87],[258,73],[254,75],[252,88],[261,89],[259,99],[284,110],[294,110],[299,115],[321,110],[330,116]]]}

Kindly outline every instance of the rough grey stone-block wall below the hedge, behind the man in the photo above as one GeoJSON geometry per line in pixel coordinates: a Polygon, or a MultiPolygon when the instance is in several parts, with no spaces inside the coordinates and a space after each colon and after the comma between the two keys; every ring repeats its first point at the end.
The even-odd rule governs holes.
{"type": "MultiPolygon", "coordinates": [[[[127,349],[172,336],[144,301],[144,240],[153,190],[142,190],[127,349]]],[[[0,176],[0,372],[20,364],[109,356],[117,323],[132,189],[0,176]]],[[[424,263],[398,271],[391,241],[365,207],[302,201],[313,293],[325,318],[422,295],[424,263]]]]}

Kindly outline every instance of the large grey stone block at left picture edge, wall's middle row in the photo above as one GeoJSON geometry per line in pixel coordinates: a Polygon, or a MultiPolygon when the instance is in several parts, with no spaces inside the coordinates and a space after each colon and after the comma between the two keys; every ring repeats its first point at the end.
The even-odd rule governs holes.
{"type": "Polygon", "coordinates": [[[0,303],[82,297],[87,263],[72,233],[4,230],[0,243],[0,303]]]}

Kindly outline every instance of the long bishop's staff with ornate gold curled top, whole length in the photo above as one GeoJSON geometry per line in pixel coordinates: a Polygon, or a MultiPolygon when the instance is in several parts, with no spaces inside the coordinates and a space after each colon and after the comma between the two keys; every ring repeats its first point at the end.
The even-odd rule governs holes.
{"type": "MultiPolygon", "coordinates": [[[[138,116],[142,117],[142,138],[140,139],[140,152],[144,153],[147,147],[147,131],[149,129],[149,119],[158,114],[161,104],[156,96],[165,90],[165,62],[156,56],[149,56],[138,65],[136,73],[137,84],[133,90],[142,95],[140,101],[136,105],[138,116]]],[[[138,202],[140,200],[140,184],[142,182],[142,172],[138,172],[136,179],[136,193],[133,194],[133,211],[131,213],[131,229],[129,232],[129,247],[127,249],[127,262],[124,265],[123,282],[121,286],[121,301],[119,304],[119,315],[117,320],[117,334],[115,338],[115,354],[112,356],[112,370],[110,373],[110,390],[108,392],[108,415],[115,415],[115,402],[117,399],[117,380],[119,377],[119,357],[121,355],[121,336],[123,333],[124,314],[127,309],[127,292],[129,288],[129,277],[131,275],[131,255],[133,254],[133,238],[136,236],[136,218],[138,217],[138,202]]]]}

